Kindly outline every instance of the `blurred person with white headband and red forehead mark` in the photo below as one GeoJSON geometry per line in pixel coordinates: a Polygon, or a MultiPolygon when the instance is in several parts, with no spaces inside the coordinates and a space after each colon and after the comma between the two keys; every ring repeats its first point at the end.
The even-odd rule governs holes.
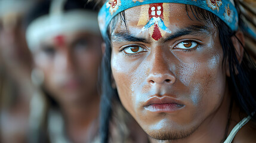
{"type": "Polygon", "coordinates": [[[94,1],[53,0],[26,18],[33,56],[30,142],[98,142],[101,36],[94,1]]]}

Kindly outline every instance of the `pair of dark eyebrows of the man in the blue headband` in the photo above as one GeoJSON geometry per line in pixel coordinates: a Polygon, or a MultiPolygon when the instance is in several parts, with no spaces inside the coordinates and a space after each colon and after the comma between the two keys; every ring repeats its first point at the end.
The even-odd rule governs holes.
{"type": "MultiPolygon", "coordinates": [[[[196,36],[208,36],[212,32],[209,30],[209,27],[207,26],[201,26],[201,25],[190,25],[185,27],[184,29],[177,30],[177,32],[172,33],[171,36],[168,36],[165,39],[162,39],[162,41],[170,41],[172,39],[184,36],[184,35],[196,35],[196,36]]],[[[143,43],[150,43],[150,41],[147,41],[146,38],[139,38],[134,35],[131,35],[127,30],[120,30],[118,33],[115,33],[113,36],[111,36],[111,40],[113,42],[122,42],[122,41],[128,41],[128,42],[143,42],[143,43]]]]}

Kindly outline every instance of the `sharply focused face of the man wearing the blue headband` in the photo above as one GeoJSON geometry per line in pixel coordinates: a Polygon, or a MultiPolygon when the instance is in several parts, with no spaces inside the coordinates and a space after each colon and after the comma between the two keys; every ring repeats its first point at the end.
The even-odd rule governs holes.
{"type": "Polygon", "coordinates": [[[125,19],[127,28],[119,20],[111,35],[122,104],[153,138],[189,136],[218,110],[227,87],[217,29],[183,4],[130,8],[125,19]]]}

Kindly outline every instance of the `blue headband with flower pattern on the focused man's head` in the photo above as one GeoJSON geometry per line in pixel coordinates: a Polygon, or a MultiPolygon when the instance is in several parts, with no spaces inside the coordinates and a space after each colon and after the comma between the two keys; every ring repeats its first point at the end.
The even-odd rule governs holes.
{"type": "MultiPolygon", "coordinates": [[[[122,11],[140,5],[158,3],[195,5],[196,7],[203,8],[204,10],[217,15],[233,31],[238,30],[238,12],[236,11],[233,0],[109,0],[103,5],[98,14],[101,34],[103,36],[107,35],[107,27],[109,26],[110,21],[122,11]]],[[[161,18],[158,21],[161,22],[161,18]]],[[[163,28],[166,27],[164,26],[163,28]]]]}

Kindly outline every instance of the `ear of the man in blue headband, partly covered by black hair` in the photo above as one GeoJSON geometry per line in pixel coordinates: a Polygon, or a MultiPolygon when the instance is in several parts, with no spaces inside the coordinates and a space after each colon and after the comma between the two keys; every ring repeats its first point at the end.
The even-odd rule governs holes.
{"type": "MultiPolygon", "coordinates": [[[[239,64],[241,64],[243,60],[243,51],[244,51],[243,45],[245,45],[245,37],[243,36],[243,33],[241,31],[238,31],[234,36],[232,36],[231,40],[236,49],[236,58],[238,58],[238,62],[239,64]]],[[[226,63],[227,63],[226,74],[227,76],[230,77],[229,63],[228,61],[226,61],[226,63]]],[[[237,69],[236,69],[236,74],[238,74],[237,69]]]]}

